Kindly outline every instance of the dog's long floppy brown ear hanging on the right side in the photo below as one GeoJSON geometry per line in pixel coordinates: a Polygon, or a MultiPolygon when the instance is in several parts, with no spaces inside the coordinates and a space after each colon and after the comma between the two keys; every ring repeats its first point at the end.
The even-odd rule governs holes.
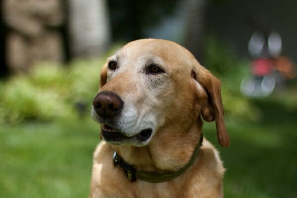
{"type": "Polygon", "coordinates": [[[221,82],[202,66],[199,66],[195,74],[196,80],[207,93],[207,101],[202,105],[201,115],[205,121],[215,120],[218,141],[221,146],[228,147],[230,141],[224,122],[221,82]]]}

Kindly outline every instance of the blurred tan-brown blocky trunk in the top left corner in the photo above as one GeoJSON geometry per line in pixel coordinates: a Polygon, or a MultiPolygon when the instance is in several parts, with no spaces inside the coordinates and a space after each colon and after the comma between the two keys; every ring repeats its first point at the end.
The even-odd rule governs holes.
{"type": "Polygon", "coordinates": [[[1,6],[7,27],[6,61],[11,70],[27,71],[38,61],[63,60],[58,30],[64,22],[60,0],[3,0],[1,6]]]}

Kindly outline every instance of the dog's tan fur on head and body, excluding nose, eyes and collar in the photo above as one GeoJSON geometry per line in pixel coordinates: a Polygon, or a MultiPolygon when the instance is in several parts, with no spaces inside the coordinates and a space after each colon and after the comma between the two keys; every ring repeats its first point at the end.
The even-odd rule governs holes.
{"type": "MultiPolygon", "coordinates": [[[[134,41],[110,58],[115,57],[119,68],[112,73],[107,64],[103,66],[99,92],[116,93],[128,106],[124,109],[127,114],[131,108],[136,109],[139,116],[127,121],[127,125],[134,123],[128,131],[131,128],[138,130],[138,126],[148,119],[152,120],[155,130],[142,147],[115,146],[104,141],[99,144],[94,152],[90,197],[222,198],[225,170],[218,151],[205,138],[195,163],[184,174],[168,182],[130,182],[121,167],[112,164],[116,150],[137,170],[177,171],[188,163],[198,145],[202,134],[200,114],[206,121],[215,120],[219,143],[229,146],[219,80],[187,49],[169,41],[134,41]],[[148,59],[158,62],[165,73],[152,77],[141,73],[148,59]],[[146,118],[148,115],[150,117],[146,118]]],[[[130,118],[123,116],[122,119],[130,118]]]]}

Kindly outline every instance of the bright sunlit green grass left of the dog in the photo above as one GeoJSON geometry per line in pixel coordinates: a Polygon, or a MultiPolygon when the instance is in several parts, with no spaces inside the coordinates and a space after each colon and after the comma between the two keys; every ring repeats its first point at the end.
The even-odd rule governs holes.
{"type": "Polygon", "coordinates": [[[0,128],[0,198],[87,198],[95,122],[0,128]]]}

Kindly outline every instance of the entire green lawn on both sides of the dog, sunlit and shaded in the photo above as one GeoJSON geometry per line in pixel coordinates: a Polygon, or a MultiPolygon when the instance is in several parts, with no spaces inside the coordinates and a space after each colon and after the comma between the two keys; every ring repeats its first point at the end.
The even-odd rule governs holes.
{"type": "MultiPolygon", "coordinates": [[[[257,122],[227,118],[229,148],[217,144],[214,123],[204,135],[227,169],[226,198],[297,197],[297,108],[254,100],[257,122]]],[[[0,127],[1,198],[87,198],[99,126],[90,117],[0,127]]]]}

